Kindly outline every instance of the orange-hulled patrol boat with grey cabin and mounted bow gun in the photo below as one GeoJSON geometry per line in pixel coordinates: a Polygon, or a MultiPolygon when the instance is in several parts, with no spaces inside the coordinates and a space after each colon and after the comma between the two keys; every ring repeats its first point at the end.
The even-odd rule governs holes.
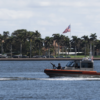
{"type": "MultiPolygon", "coordinates": [[[[52,64],[52,63],[51,63],[52,64]]],[[[68,77],[100,77],[100,72],[94,71],[94,62],[90,58],[83,58],[82,60],[69,61],[65,67],[57,69],[53,65],[53,69],[45,69],[49,77],[68,76],[68,77]]]]}

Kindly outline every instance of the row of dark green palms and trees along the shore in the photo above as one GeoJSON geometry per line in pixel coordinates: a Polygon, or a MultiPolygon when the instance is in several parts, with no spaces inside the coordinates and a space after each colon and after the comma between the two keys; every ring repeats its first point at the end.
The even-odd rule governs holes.
{"type": "Polygon", "coordinates": [[[59,50],[62,52],[83,52],[84,55],[89,55],[90,44],[92,44],[93,55],[98,55],[100,51],[100,40],[97,39],[96,33],[91,33],[90,36],[83,35],[81,38],[77,36],[60,35],[59,33],[52,34],[52,37],[41,38],[38,31],[27,31],[26,29],[16,30],[9,33],[4,31],[0,34],[0,52],[1,54],[9,53],[27,55],[59,55],[59,50]]]}

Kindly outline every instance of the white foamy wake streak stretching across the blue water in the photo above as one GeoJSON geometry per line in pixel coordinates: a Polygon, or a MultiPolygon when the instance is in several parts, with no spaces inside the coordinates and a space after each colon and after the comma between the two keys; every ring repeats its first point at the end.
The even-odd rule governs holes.
{"type": "Polygon", "coordinates": [[[27,77],[5,77],[0,78],[0,81],[18,81],[18,80],[47,80],[47,81],[100,81],[100,78],[75,78],[75,77],[60,77],[60,78],[27,78],[27,77]]]}

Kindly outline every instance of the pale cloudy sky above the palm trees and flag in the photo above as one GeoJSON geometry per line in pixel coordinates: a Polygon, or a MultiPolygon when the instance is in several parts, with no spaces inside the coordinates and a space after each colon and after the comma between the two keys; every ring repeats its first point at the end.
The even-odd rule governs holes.
{"type": "Polygon", "coordinates": [[[0,0],[0,33],[18,29],[38,30],[42,38],[96,33],[100,39],[100,0],[0,0]]]}

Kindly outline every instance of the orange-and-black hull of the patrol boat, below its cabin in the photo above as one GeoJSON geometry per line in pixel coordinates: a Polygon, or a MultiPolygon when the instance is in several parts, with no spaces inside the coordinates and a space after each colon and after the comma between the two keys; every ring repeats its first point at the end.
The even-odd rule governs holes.
{"type": "Polygon", "coordinates": [[[96,71],[45,69],[44,73],[46,73],[50,77],[55,77],[55,76],[100,77],[100,73],[96,71]]]}

